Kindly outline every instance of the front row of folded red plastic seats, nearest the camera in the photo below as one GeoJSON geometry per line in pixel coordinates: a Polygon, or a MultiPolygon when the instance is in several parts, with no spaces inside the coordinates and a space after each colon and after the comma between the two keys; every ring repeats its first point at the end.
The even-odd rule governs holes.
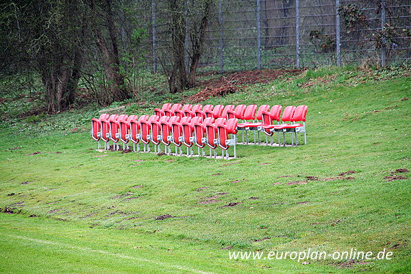
{"type": "MultiPolygon", "coordinates": [[[[94,140],[103,140],[105,149],[108,149],[110,140],[116,147],[119,141],[127,144],[130,140],[134,145],[142,142],[144,151],[149,151],[148,145],[153,143],[155,153],[160,152],[160,144],[165,145],[169,153],[169,146],[175,145],[176,154],[177,147],[181,148],[184,145],[190,149],[190,152],[187,150],[187,154],[190,155],[193,145],[199,149],[210,147],[210,155],[211,149],[221,147],[228,157],[227,149],[230,145],[236,145],[236,140],[229,139],[229,134],[237,133],[237,123],[236,118],[227,120],[221,117],[203,119],[201,116],[184,116],[180,119],[179,116],[142,115],[138,119],[136,115],[102,114],[99,119],[92,119],[91,136],[94,140]]],[[[179,153],[182,153],[181,149],[179,153]]]]}

